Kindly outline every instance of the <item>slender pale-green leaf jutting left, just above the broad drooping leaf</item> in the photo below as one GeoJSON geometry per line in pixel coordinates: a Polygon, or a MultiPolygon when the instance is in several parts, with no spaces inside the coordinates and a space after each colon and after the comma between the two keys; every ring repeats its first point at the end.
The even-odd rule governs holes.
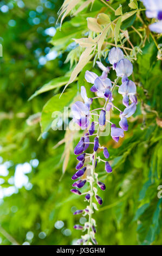
{"type": "Polygon", "coordinates": [[[41,89],[36,90],[36,92],[31,95],[29,100],[33,99],[37,95],[48,92],[49,90],[53,90],[55,88],[59,88],[61,86],[64,86],[64,84],[68,83],[70,77],[62,76],[62,77],[56,77],[53,80],[51,80],[49,83],[44,84],[44,86],[41,87],[41,89]]]}

